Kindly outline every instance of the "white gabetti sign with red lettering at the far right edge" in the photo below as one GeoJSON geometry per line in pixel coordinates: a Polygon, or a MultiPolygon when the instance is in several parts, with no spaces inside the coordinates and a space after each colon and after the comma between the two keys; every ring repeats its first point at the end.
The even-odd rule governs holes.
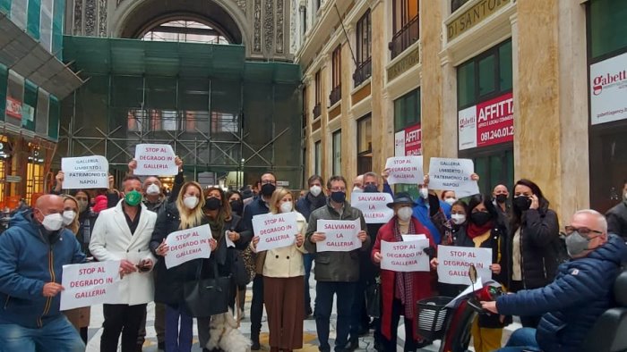
{"type": "Polygon", "coordinates": [[[593,125],[627,119],[627,53],[590,65],[593,125]]]}

